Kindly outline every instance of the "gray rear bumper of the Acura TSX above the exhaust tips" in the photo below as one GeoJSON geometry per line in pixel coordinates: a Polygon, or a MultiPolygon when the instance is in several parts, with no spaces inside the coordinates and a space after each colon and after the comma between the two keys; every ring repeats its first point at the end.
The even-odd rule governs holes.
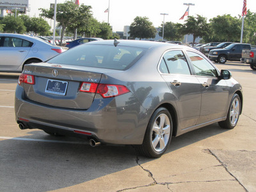
{"type": "Polygon", "coordinates": [[[23,88],[17,86],[15,116],[17,123],[28,129],[92,137],[102,143],[140,145],[143,142],[148,113],[136,102],[121,105],[124,103],[121,100],[131,97],[132,93],[119,98],[95,98],[88,110],[53,108],[28,100],[23,93],[23,88]]]}

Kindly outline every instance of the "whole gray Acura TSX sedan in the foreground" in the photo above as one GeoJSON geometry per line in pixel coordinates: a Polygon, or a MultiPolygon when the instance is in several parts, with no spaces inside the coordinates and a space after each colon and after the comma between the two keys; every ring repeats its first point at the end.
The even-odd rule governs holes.
{"type": "Polygon", "coordinates": [[[15,94],[20,129],[135,145],[160,157],[172,136],[219,122],[232,129],[242,88],[193,48],[135,40],[74,47],[25,65],[15,94]]]}

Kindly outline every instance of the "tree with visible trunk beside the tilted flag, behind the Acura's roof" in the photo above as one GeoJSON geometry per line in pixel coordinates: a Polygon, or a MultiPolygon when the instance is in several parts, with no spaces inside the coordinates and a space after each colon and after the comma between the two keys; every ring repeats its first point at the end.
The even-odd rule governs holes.
{"type": "Polygon", "coordinates": [[[185,21],[185,24],[182,26],[182,28],[180,28],[180,33],[183,35],[193,35],[193,45],[196,38],[207,35],[207,31],[209,31],[207,19],[200,15],[197,15],[197,17],[189,16],[185,21]]]}

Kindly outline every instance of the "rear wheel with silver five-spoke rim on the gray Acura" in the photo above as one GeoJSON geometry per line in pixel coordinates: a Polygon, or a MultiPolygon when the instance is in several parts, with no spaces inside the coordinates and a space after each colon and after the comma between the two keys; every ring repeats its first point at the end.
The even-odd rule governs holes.
{"type": "Polygon", "coordinates": [[[172,116],[166,108],[158,108],[148,123],[142,145],[137,149],[143,156],[161,157],[172,139],[172,116]]]}

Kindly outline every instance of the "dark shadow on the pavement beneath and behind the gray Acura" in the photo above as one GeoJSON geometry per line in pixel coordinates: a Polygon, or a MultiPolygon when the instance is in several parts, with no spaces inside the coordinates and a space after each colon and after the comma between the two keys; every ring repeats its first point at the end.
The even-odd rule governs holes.
{"type": "MultiPolygon", "coordinates": [[[[173,138],[166,154],[225,131],[212,124],[188,132],[173,138]]],[[[155,160],[140,156],[130,145],[90,147],[87,141],[77,138],[54,137],[36,130],[28,133],[28,136],[0,141],[0,191],[67,188],[138,166],[138,162],[155,160]]]]}

